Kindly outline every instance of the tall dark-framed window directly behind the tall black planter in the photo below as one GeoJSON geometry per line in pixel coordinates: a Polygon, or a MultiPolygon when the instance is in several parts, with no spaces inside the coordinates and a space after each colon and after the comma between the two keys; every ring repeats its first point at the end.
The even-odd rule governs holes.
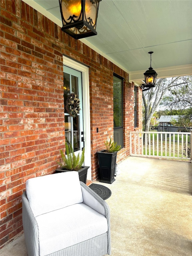
{"type": "Polygon", "coordinates": [[[123,148],[123,78],[113,76],[113,137],[123,148]]]}

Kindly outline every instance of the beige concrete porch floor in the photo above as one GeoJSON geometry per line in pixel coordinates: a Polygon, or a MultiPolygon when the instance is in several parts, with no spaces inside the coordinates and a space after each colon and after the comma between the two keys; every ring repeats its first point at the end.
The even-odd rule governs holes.
{"type": "MultiPolygon", "coordinates": [[[[129,157],[118,166],[113,184],[96,182],[112,191],[112,256],[191,256],[192,164],[129,157]]],[[[1,256],[27,256],[24,235],[1,256]]]]}

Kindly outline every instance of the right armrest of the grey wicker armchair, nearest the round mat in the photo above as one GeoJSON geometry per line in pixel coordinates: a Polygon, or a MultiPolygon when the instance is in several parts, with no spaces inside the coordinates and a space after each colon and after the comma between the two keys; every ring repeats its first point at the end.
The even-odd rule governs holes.
{"type": "Polygon", "coordinates": [[[103,214],[107,218],[107,253],[111,254],[111,224],[110,224],[110,208],[108,204],[98,195],[96,194],[91,188],[89,188],[85,183],[81,182],[81,190],[83,196],[83,203],[94,209],[95,211],[103,214]]]}

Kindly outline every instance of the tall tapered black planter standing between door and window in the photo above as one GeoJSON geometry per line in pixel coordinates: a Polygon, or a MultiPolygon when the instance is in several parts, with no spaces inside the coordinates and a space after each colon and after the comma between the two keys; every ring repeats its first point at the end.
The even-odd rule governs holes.
{"type": "Polygon", "coordinates": [[[101,182],[113,183],[115,181],[115,164],[117,158],[117,151],[114,153],[104,152],[105,150],[98,151],[99,169],[101,182]]]}

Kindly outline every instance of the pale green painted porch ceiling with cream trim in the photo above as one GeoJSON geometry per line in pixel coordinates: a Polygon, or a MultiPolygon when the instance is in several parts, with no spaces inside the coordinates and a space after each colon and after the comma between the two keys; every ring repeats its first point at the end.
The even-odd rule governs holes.
{"type": "MultiPolygon", "coordinates": [[[[59,26],[58,0],[24,0],[59,26]]],[[[98,35],[81,41],[130,74],[141,84],[150,66],[159,77],[192,74],[191,0],[102,0],[98,35]]]]}

